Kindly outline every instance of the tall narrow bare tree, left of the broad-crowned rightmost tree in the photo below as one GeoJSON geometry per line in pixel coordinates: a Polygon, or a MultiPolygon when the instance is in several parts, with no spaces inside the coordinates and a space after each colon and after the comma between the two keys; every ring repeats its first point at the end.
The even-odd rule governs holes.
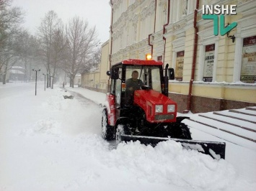
{"type": "Polygon", "coordinates": [[[45,61],[46,70],[48,73],[47,88],[50,86],[50,79],[53,77],[53,70],[51,68],[53,61],[53,35],[58,31],[62,22],[58,19],[55,11],[48,11],[42,19],[40,27],[38,28],[38,37],[40,39],[40,55],[45,61]]]}

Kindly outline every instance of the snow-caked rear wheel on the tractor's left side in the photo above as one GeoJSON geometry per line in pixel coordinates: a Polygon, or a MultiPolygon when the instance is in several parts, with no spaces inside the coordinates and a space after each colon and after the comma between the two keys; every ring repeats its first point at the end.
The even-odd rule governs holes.
{"type": "Polygon", "coordinates": [[[102,138],[107,141],[114,139],[114,127],[108,124],[106,108],[102,111],[102,138]]]}

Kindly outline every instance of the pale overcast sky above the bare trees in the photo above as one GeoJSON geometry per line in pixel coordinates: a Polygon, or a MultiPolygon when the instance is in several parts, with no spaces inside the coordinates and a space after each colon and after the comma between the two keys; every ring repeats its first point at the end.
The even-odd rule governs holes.
{"type": "Polygon", "coordinates": [[[109,0],[13,0],[26,12],[24,27],[35,34],[40,20],[53,10],[64,23],[74,16],[87,19],[89,26],[96,26],[100,42],[109,39],[111,7],[109,0]]]}

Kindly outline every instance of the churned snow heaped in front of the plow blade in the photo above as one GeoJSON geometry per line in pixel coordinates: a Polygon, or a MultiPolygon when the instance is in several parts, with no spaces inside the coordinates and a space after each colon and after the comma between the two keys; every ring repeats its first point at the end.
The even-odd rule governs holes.
{"type": "Polygon", "coordinates": [[[139,141],[120,144],[105,163],[132,172],[138,180],[164,185],[222,190],[236,181],[234,167],[221,159],[182,149],[180,143],[164,141],[154,148],[139,141]]]}

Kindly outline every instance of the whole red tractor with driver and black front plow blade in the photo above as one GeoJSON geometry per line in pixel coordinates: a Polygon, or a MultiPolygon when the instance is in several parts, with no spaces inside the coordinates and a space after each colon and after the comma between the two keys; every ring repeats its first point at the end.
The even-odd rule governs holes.
{"type": "Polygon", "coordinates": [[[177,116],[177,103],[168,97],[168,80],[175,78],[168,64],[154,60],[124,60],[107,71],[111,78],[102,111],[102,137],[107,141],[141,141],[155,146],[174,140],[185,149],[225,158],[224,142],[194,141],[190,129],[177,116]]]}

